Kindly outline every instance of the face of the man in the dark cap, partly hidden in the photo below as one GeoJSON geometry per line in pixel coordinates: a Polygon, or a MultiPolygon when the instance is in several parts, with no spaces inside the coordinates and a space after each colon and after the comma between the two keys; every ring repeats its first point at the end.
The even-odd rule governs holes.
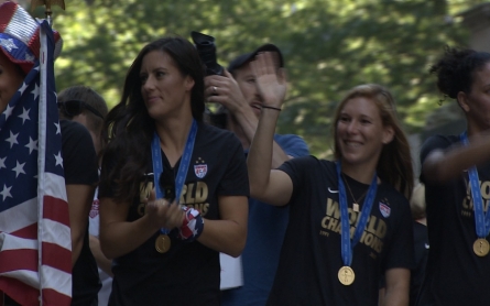
{"type": "Polygon", "coordinates": [[[259,89],[255,84],[255,76],[253,75],[250,62],[236,69],[235,79],[240,87],[243,98],[253,109],[257,117],[260,116],[262,98],[259,95],[259,89]]]}

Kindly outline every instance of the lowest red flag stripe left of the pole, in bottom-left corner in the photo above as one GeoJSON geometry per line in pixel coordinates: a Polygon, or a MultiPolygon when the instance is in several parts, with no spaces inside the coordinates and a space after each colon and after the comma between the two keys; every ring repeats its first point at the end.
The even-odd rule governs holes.
{"type": "Polygon", "coordinates": [[[40,292],[15,278],[0,276],[0,289],[21,305],[39,306],[40,292]]]}

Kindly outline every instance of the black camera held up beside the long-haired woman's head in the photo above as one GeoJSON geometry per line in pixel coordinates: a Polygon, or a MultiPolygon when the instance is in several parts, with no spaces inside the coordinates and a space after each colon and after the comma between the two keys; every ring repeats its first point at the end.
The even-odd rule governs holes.
{"type": "Polygon", "coordinates": [[[192,31],[194,44],[200,61],[206,65],[206,75],[222,75],[222,67],[216,62],[216,45],[215,37],[192,31]]]}

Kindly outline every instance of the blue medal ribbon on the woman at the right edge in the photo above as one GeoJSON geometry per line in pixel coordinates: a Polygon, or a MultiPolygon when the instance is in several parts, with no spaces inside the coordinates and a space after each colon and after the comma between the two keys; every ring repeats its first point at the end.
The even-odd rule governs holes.
{"type": "MultiPolygon", "coordinates": [[[[460,135],[464,145],[468,145],[468,135],[466,131],[460,135]]],[[[468,176],[471,188],[471,197],[475,207],[475,226],[477,228],[478,238],[486,238],[490,232],[490,214],[483,211],[483,200],[481,198],[480,179],[478,177],[477,167],[472,166],[468,170],[468,176]]]]}

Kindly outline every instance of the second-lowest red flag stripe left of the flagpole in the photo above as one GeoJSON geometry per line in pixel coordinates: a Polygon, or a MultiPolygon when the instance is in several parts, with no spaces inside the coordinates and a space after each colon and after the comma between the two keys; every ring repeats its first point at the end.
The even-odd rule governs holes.
{"type": "Polygon", "coordinates": [[[17,249],[0,252],[0,273],[15,270],[37,271],[37,250],[17,249]]]}

